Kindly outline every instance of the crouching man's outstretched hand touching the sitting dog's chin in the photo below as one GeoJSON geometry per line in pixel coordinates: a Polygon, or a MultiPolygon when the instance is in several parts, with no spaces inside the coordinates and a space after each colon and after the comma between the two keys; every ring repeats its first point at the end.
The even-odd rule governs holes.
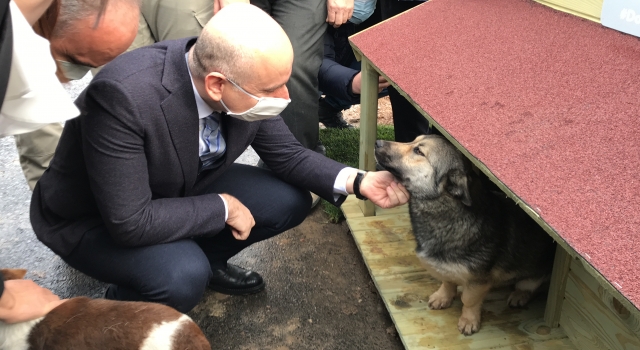
{"type": "MultiPolygon", "coordinates": [[[[347,181],[347,192],[353,193],[355,175],[347,181]]],[[[370,171],[360,183],[360,193],[380,208],[393,208],[409,201],[409,192],[388,171],[370,171]]]]}

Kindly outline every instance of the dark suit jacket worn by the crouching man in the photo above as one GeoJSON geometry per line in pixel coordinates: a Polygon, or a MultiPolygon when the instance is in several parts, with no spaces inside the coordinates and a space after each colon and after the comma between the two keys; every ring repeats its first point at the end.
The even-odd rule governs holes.
{"type": "Polygon", "coordinates": [[[280,117],[223,115],[224,164],[198,175],[198,112],[184,57],[195,40],[119,56],[76,101],[81,115],[65,125],[31,203],[36,235],[57,254],[101,225],[126,246],[218,233],[224,204],[202,193],[249,145],[283,180],[344,200],[333,200],[333,184],[345,166],[303,148],[280,117]]]}

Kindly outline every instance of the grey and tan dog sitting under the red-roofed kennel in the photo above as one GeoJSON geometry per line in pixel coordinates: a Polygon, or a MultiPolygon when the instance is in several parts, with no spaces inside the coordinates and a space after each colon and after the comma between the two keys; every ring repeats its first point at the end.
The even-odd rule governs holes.
{"type": "Polygon", "coordinates": [[[522,307],[549,280],[553,239],[503,193],[488,190],[445,138],[378,140],[375,157],[409,192],[416,253],[442,281],[429,296],[429,307],[448,308],[462,287],[462,334],[480,329],[482,302],[492,287],[515,284],[507,303],[522,307]]]}

